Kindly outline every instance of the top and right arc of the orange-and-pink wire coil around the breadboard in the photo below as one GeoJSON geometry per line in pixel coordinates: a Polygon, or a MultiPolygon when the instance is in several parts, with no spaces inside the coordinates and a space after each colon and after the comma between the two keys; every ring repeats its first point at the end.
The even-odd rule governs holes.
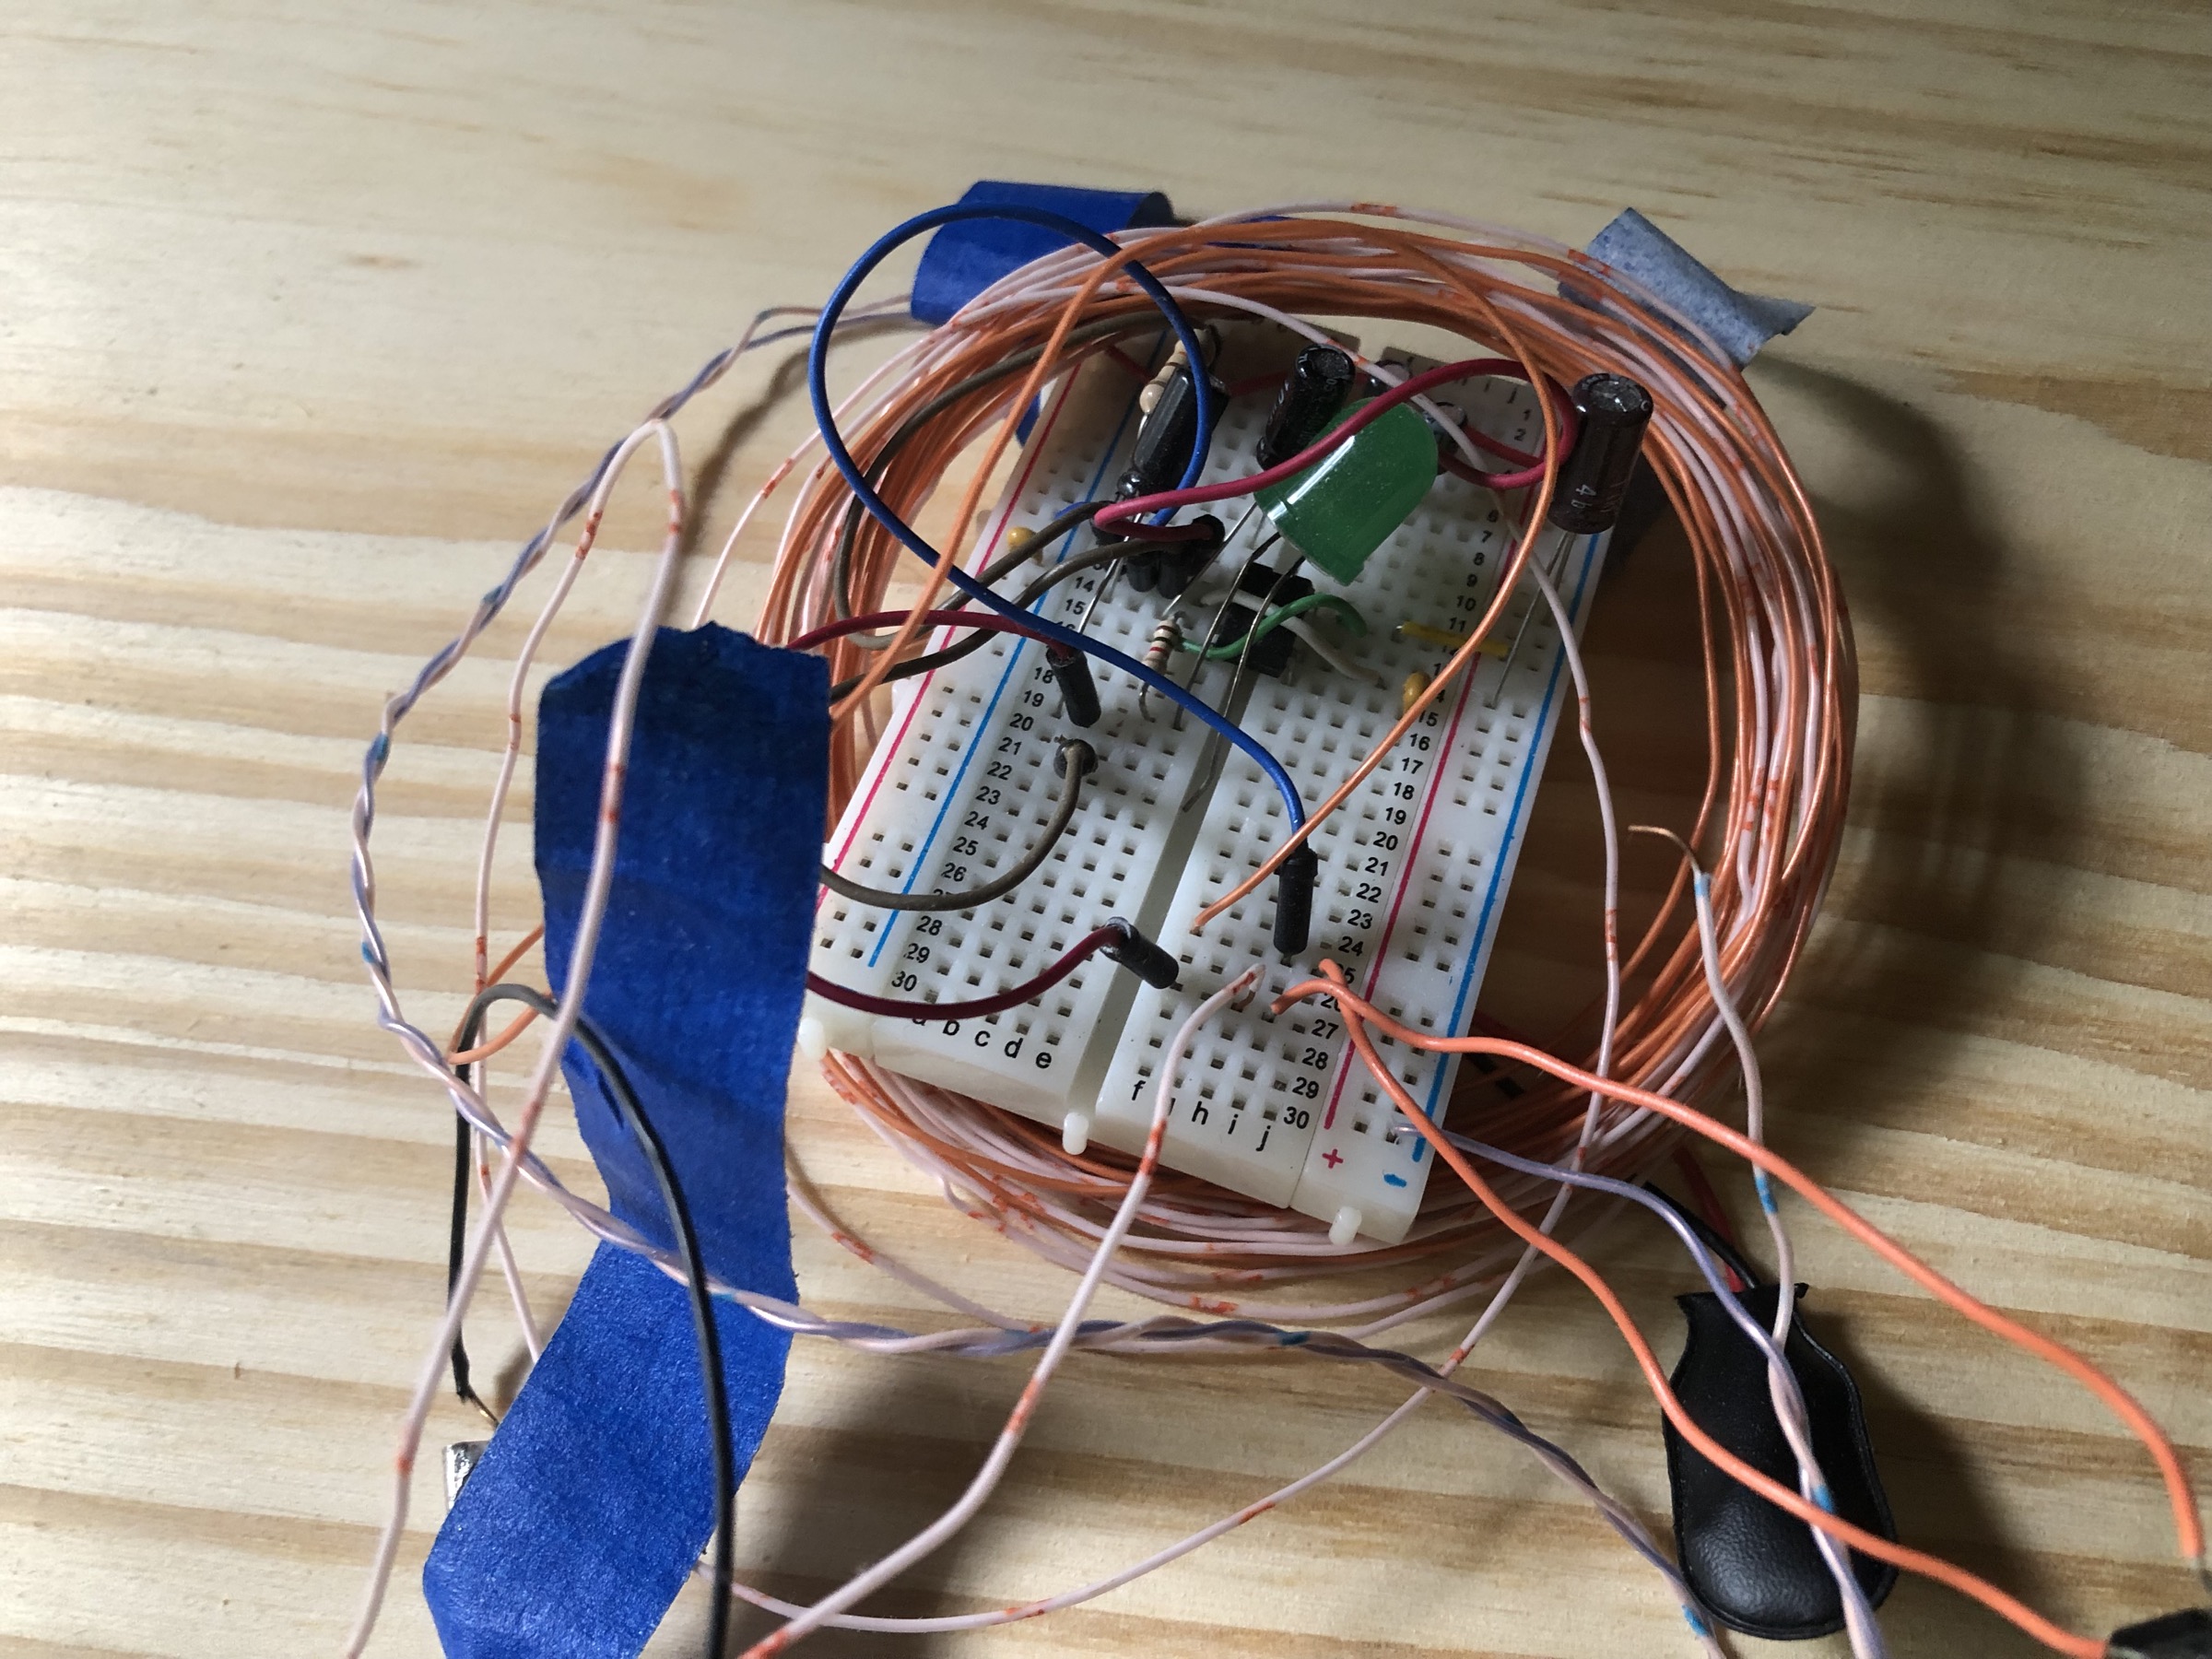
{"type": "MultiPolygon", "coordinates": [[[[1203,276],[1203,285],[1210,292],[1245,294],[1285,310],[1336,316],[1400,316],[1405,321],[1451,327],[1482,347],[1515,352],[1524,363],[1533,363],[1533,367],[1542,367],[1559,380],[1610,365],[1604,341],[1584,336],[1593,319],[1590,310],[1482,272],[1449,265],[1453,254],[1480,252],[1491,259],[1520,261],[1546,276],[1573,276],[1584,288],[1606,288],[1604,272],[1573,261],[1513,248],[1467,246],[1405,232],[1396,226],[1270,221],[1265,226],[1237,226],[1234,268],[1219,270],[1217,265],[1225,259],[1214,246],[1219,237],[1219,228],[1161,232],[1141,243],[1141,257],[1161,281],[1197,281],[1197,276],[1203,276]],[[1385,243],[1407,268],[1425,272],[1429,285],[1409,292],[1402,285],[1394,288],[1387,281],[1378,281],[1374,274],[1374,254],[1347,252],[1343,246],[1336,246],[1347,234],[1356,234],[1363,243],[1385,243]],[[1509,299],[1515,307],[1515,321],[1506,325],[1498,305],[1509,299]],[[1506,332],[1517,338],[1502,338],[1506,332]]],[[[883,484],[885,495],[894,504],[911,511],[918,498],[951,465],[953,453],[969,442],[973,429],[989,420],[993,407],[1000,411],[1000,429],[1004,429],[1004,418],[1029,407],[1026,398],[1033,387],[1048,380],[1060,367],[1051,354],[1051,341],[1064,338],[1077,321],[1128,316],[1133,325],[1141,325],[1150,316],[1146,301],[1126,285],[1108,283],[1106,272],[1108,265],[1093,263],[1088,281],[1075,283],[1073,276],[1077,270],[1071,261],[1068,281],[1073,294],[1062,290],[1060,299],[1040,301],[1029,310],[1002,310],[967,330],[956,319],[945,330],[945,349],[931,361],[927,374],[914,376],[909,385],[898,387],[869,416],[856,422],[856,431],[852,434],[854,449],[867,456],[880,447],[887,434],[898,431],[911,411],[933,396],[936,387],[975,374],[989,363],[1002,361],[1013,349],[1040,343],[1048,347],[1033,365],[1022,392],[1000,398],[1000,394],[984,389],[902,440],[900,453],[887,469],[883,484]]],[[[1608,301],[1615,303],[1630,325],[1644,330],[1644,338],[1670,338],[1663,321],[1641,305],[1641,301],[1619,294],[1608,294],[1608,301]]],[[[1219,305],[1208,307],[1199,301],[1192,301],[1190,310],[1203,319],[1228,316],[1219,305]]],[[[1619,330],[1624,325],[1608,321],[1606,327],[1619,330]]],[[[1725,969],[1732,980],[1743,980],[1745,1015],[1756,1024],[1763,1020],[1767,1006],[1772,1006],[1785,969],[1796,958],[1809,925],[1812,896],[1834,856],[1849,752],[1845,737],[1849,721],[1843,710],[1849,701],[1851,668],[1849,639],[1847,633],[1840,633],[1843,622],[1834,582],[1827,575],[1818,531],[1803,507],[1803,493],[1796,491],[1778,449],[1770,451],[1763,445],[1752,445],[1750,436],[1745,436],[1745,427],[1756,436],[1767,434],[1747,387],[1741,385],[1741,378],[1732,369],[1719,378],[1723,383],[1721,392],[1708,392],[1692,380],[1686,389],[1677,387],[1677,394],[1661,394],[1661,418],[1655,422],[1652,447],[1661,480],[1690,531],[1699,606],[1705,617],[1701,650],[1708,686],[1708,776],[1692,838],[1703,843],[1717,834],[1723,849],[1741,836],[1763,843],[1759,863],[1750,872],[1756,898],[1736,891],[1732,860],[1714,860],[1719,865],[1714,905],[1723,920],[1723,936],[1728,938],[1723,953],[1725,969]],[[1812,646],[1812,655],[1805,659],[1805,684],[1792,681],[1787,706],[1774,712],[1776,721],[1794,721],[1812,710],[1814,726],[1809,730],[1814,732],[1814,741],[1807,745],[1812,765],[1809,783],[1798,770],[1801,757],[1792,745],[1783,745],[1774,759],[1774,770],[1767,776],[1759,776],[1754,772],[1756,757],[1747,754],[1747,743],[1723,741],[1728,737],[1723,730],[1723,710],[1732,714],[1734,732],[1750,732],[1750,690],[1743,677],[1732,675],[1730,668],[1752,648],[1745,630],[1752,626],[1754,606],[1772,606],[1776,584],[1767,584],[1767,599],[1754,597],[1743,586],[1743,577],[1730,568],[1721,553],[1725,538],[1721,518],[1701,489],[1688,484],[1688,451],[1670,438],[1672,429],[1668,422],[1692,420],[1694,409],[1701,409],[1710,422],[1719,425],[1725,442],[1734,445],[1728,453],[1734,458],[1734,465],[1743,467],[1745,482],[1730,484],[1723,478],[1721,484],[1732,491],[1756,484],[1772,498],[1772,513],[1761,515],[1747,509],[1741,518],[1752,524],[1754,533],[1770,540],[1790,535],[1809,571],[1809,575],[1794,575],[1781,584],[1801,593],[1803,602],[1776,624],[1776,630],[1790,650],[1801,653],[1805,646],[1812,646]],[[1717,655],[1717,639],[1732,644],[1734,659],[1723,661],[1717,655]],[[1801,796],[1809,799],[1812,807],[1801,821],[1792,823],[1792,803],[1801,796]]],[[[779,562],[770,602],[763,608],[763,637],[790,637],[801,626],[816,622],[810,615],[810,606],[818,606],[823,593],[818,580],[805,573],[823,568],[821,560],[827,557],[830,542],[847,511],[852,511],[849,495],[843,491],[841,480],[818,476],[816,487],[794,515],[790,535],[792,557],[779,562]]],[[[1524,518],[1540,522],[1533,513],[1524,518]]],[[[1781,555],[1778,546],[1767,557],[1776,555],[1781,555]]],[[[852,593],[845,597],[874,608],[880,586],[889,580],[898,557],[896,542],[880,533],[878,526],[872,522],[856,526],[849,560],[852,593]]],[[[927,593],[918,604],[927,604],[927,593]]],[[[845,655],[843,661],[834,664],[834,672],[849,672],[865,666],[880,668],[891,655],[896,653],[878,655],[874,664],[858,664],[845,655]]],[[[858,699],[852,701],[858,703],[858,699]]],[[[841,721],[838,750],[834,754],[834,785],[838,796],[849,790],[852,776],[865,759],[865,750],[854,741],[854,732],[856,721],[841,721]]],[[[1657,1082],[1655,1068],[1663,1068],[1670,1055],[1683,1053],[1686,1044],[1712,1018],[1697,967],[1694,940],[1681,936],[1672,942],[1672,949],[1659,949],[1668,916],[1679,916],[1679,907],[1666,907],[1650,922],[1630,958],[1632,964],[1641,964],[1652,960],[1657,951],[1648,991],[1630,1000],[1617,1026],[1617,1071],[1635,1079],[1657,1082]]],[[[1686,1088],[1692,1095],[1701,1093],[1719,1068],[1719,1060],[1705,1055],[1692,1077],[1670,1079],[1670,1086],[1686,1088]]],[[[1517,1104],[1513,1117],[1528,1137],[1528,1144],[1537,1146],[1557,1144],[1566,1113],[1566,1091],[1546,1084],[1528,1091],[1528,1097],[1517,1104]]],[[[898,1117],[902,1115],[894,1108],[891,1119],[896,1121],[898,1117]]],[[[1659,1137],[1646,1139],[1644,1150],[1635,1155],[1663,1157],[1666,1150],[1668,1137],[1659,1137]]],[[[1436,1203],[1449,1203],[1449,1199],[1440,1192],[1436,1203]]],[[[1453,1237],[1458,1237],[1455,1230],[1453,1237]]],[[[1449,1245],[1440,1243],[1438,1248],[1449,1245]]]]}

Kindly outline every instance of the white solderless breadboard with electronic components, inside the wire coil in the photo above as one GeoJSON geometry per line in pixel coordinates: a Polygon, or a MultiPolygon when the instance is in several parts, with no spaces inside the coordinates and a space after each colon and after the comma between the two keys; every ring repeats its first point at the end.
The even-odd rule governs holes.
{"type": "MultiPolygon", "coordinates": [[[[1234,374],[1281,367],[1296,349],[1274,330],[1239,327],[1228,338],[1234,374]]],[[[1137,380],[1113,363],[1060,389],[973,566],[995,557],[1013,526],[1042,524],[1077,500],[1110,493],[1135,438],[1135,394],[1137,380]]],[[[1540,442],[1526,387],[1489,380],[1455,394],[1471,420],[1504,442],[1540,442]]],[[[1230,405],[1208,482],[1256,469],[1265,405],[1263,396],[1230,405]]],[[[1239,498],[1210,511],[1234,524],[1248,504],[1239,498]]],[[[1383,681],[1340,675],[1303,641],[1283,679],[1245,670],[1230,712],[1290,770],[1307,805],[1332,794],[1389,730],[1407,675],[1433,672],[1447,655],[1398,641],[1391,628],[1416,622],[1464,630],[1495,593],[1509,529],[1486,491],[1447,473],[1352,586],[1301,568],[1367,617],[1365,637],[1347,639],[1340,628],[1336,637],[1383,681]]],[[[1228,588],[1267,531],[1252,515],[1199,584],[1208,599],[1228,588]]],[[[1046,557],[1088,544],[1088,531],[1077,531],[1046,557]]],[[[1546,535],[1537,549],[1577,628],[1601,555],[1604,538],[1562,544],[1546,535]]],[[[1197,604],[1192,591],[1177,608],[1192,637],[1203,635],[1212,604],[1197,604]]],[[[1088,613],[1093,637],[1141,657],[1168,606],[1157,593],[1088,573],[1055,588],[1042,611],[1068,626],[1082,626],[1088,613]]],[[[1126,916],[1179,953],[1181,980],[1155,991],[1099,956],[1040,1002],[987,1020],[878,1020],[821,998],[807,998],[807,1015],[834,1048],[1024,1113],[1073,1139],[1137,1150],[1175,1029],[1256,960],[1265,967],[1259,995],[1243,1013],[1223,1011],[1210,1022],[1183,1062],[1166,1164],[1329,1221],[1340,1239],[1405,1237],[1427,1181],[1427,1146],[1411,1126],[1394,1128],[1396,1113],[1349,1051],[1334,1009],[1310,1002],[1276,1020],[1267,1000],[1332,956],[1363,995],[1405,1024],[1467,1029],[1535,781],[1555,726],[1573,710],[1559,637],[1535,584],[1522,584],[1495,639],[1495,655],[1484,655],[1312,836],[1321,858],[1314,927],[1294,962],[1272,947],[1272,883],[1203,936],[1190,933],[1197,911],[1250,874],[1283,834],[1281,796],[1241,752],[1210,745],[1192,719],[1177,726],[1159,699],[1139,708],[1137,684],[1108,668],[1097,670],[1106,712],[1077,730],[1062,719],[1042,648],[1006,635],[905,681],[825,849],[854,880],[902,891],[984,883],[1022,858],[1048,823],[1060,794],[1057,737],[1084,737],[1099,768],[1062,845],[1006,898],[925,916],[825,894],[814,971],[869,995],[964,1002],[1033,978],[1108,916],[1126,916]]],[[[1175,672],[1188,670],[1190,655],[1177,653],[1175,672]]],[[[1194,690],[1219,706],[1232,677],[1232,661],[1208,664],[1194,690]]],[[[1442,1113],[1458,1062],[1385,1053],[1400,1062],[1422,1108],[1442,1113]]]]}

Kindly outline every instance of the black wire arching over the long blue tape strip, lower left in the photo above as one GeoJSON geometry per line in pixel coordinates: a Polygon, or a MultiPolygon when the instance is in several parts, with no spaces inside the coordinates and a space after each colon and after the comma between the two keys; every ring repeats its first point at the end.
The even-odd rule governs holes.
{"type": "MultiPolygon", "coordinates": [[[[553,998],[529,984],[487,984],[469,1002],[469,1013],[460,1024],[460,1048],[476,1046],[476,1035],[484,1024],[484,1009],[493,1002],[520,1002],[535,1009],[540,1018],[551,1020],[560,1013],[553,998]]],[[[624,1128],[637,1141],[637,1148],[646,1155],[646,1166],[653,1170],[653,1183],[661,1190],[661,1208],[668,1210],[668,1230],[675,1234],[677,1254],[684,1256],[684,1279],[690,1294],[692,1329],[699,1338],[699,1374],[706,1387],[706,1429],[708,1444],[714,1460],[714,1604],[708,1608],[708,1659],[721,1659],[730,1644],[730,1599],[732,1582],[737,1577],[737,1447],[730,1440],[730,1394],[721,1371],[721,1332],[714,1325],[714,1298],[706,1285],[706,1256],[699,1252],[699,1232],[692,1228],[690,1203],[684,1201],[684,1188],[677,1183],[675,1166],[668,1161],[668,1148],[661,1146],[661,1137],[655,1133],[644,1108],[637,1104],[637,1095],[630,1088],[628,1075],[622,1071],[622,1062],[615,1060],[613,1048],[593,1031],[591,1022],[577,1015],[575,1042],[591,1064],[599,1068],[599,1077],[606,1082],[606,1093],[615,1102],[615,1113],[622,1117],[624,1128]]],[[[467,1232],[469,1223],[469,1183],[467,1183],[467,1146],[469,1146],[469,1124],[460,1124],[460,1179],[453,1183],[453,1239],[458,1241],[467,1232]]],[[[456,1259],[458,1276],[458,1259],[456,1259]]],[[[447,1281],[447,1294],[451,1296],[453,1279],[447,1281]]],[[[453,1338],[453,1387],[462,1391],[465,1400],[476,1400],[476,1391],[469,1387],[469,1358],[462,1352],[460,1336],[453,1338]]],[[[482,1400],[478,1400],[482,1405],[482,1400]]],[[[489,1411],[489,1407],[487,1407],[489,1411]]]]}

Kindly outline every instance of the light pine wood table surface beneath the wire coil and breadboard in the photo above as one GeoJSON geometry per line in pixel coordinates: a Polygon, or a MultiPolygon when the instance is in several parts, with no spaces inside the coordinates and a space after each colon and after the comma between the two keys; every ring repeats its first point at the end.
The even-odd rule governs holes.
{"type": "MultiPolygon", "coordinates": [[[[1774,1139],[2110,1365],[2212,1478],[2203,7],[18,0],[0,33],[0,1655],[336,1650],[445,1248],[449,1119],[372,1026],[345,896],[378,699],[743,316],[980,175],[1190,210],[1385,197],[1566,241],[1635,204],[1818,303],[1752,378],[1867,695],[1843,863],[1765,1037],[1774,1139]]],[[[754,365],[688,425],[710,542],[801,429],[792,389],[790,361],[754,365]]],[[[555,661],[628,626],[641,571],[599,555],[555,661]]],[[[1657,597],[1601,599],[1601,675],[1677,657],[1639,615],[1679,575],[1663,538],[1630,562],[1657,597]]],[[[752,564],[721,615],[750,622],[759,586],[752,564]]],[[[398,980],[438,1018],[515,639],[411,723],[385,801],[398,980]]],[[[1666,796],[1657,763],[1619,765],[1666,796]]],[[[1586,847],[1555,770],[1544,825],[1586,847]]],[[[1582,896],[1551,858],[1502,1006],[1557,967],[1542,907],[1582,896]]],[[[814,1079],[792,1135],[960,1285],[1064,1296],[814,1079]]],[[[555,1152],[588,1179],[573,1133],[555,1152]]],[[[515,1239],[553,1316],[584,1241],[538,1201],[515,1239]]],[[[1801,1239],[1909,1540],[2093,1632],[2190,1599],[2148,1462],[2088,1396],[1801,1239]]],[[[916,1312],[805,1230],[799,1252],[812,1301],[916,1312]]],[[[1610,1261],[1672,1343],[1679,1259],[1624,1228],[1610,1261]]],[[[511,1378],[498,1314],[478,1340],[511,1378]]],[[[1584,1298],[1540,1279],[1475,1374],[1663,1526],[1657,1416],[1584,1298]]],[[[743,1571],[807,1593],[883,1553],[1018,1385],[796,1349],[743,1571]]],[[[1396,1398],[1292,1363],[1079,1360],[891,1604],[1102,1575],[1396,1398]]],[[[440,1405],[434,1442],[465,1433],[440,1405]]],[[[438,1509],[378,1655],[436,1650],[414,1573],[438,1509]]],[[[688,1595],[657,1650],[699,1617],[688,1595]]],[[[1900,1655],[2028,1650],[1920,1584],[1887,1624],[1900,1655]]],[[[1584,1509],[1442,1409],[1091,1608],[818,1650],[1690,1652],[1584,1509]]]]}

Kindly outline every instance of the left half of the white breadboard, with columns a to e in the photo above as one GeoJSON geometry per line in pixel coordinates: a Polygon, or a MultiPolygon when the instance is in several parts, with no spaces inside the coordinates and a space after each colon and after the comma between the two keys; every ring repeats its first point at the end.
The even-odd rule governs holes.
{"type": "MultiPolygon", "coordinates": [[[[1013,498],[973,553],[975,566],[1004,549],[1011,529],[1035,529],[1099,493],[1135,425],[1130,394],[1113,378],[1086,376],[1053,398],[1013,498]]],[[[1066,557],[1075,544],[1075,535],[1062,538],[1040,560],[1066,557]]],[[[1137,595],[1117,595],[1104,575],[1055,588],[1046,615],[1141,653],[1152,619],[1128,604],[1137,595]]],[[[933,644],[949,639],[945,630],[933,644]]],[[[1128,741],[1135,686],[1121,697],[1117,675],[1099,681],[1108,710],[1084,732],[1064,728],[1044,653],[1029,639],[1000,635],[902,688],[891,728],[825,847],[825,860],[852,880],[900,891],[978,887],[1024,858],[1053,821],[1062,732],[1088,741],[1099,763],[1082,783],[1068,832],[1004,898],[971,911],[914,914],[825,894],[816,971],[872,995],[971,1002],[1035,978],[1108,916],[1133,914],[1133,898],[1157,880],[1164,825],[1188,787],[1194,752],[1128,741]]],[[[1091,1037],[1126,1000],[1126,975],[1093,958],[1035,1004],[980,1020],[874,1020],[818,998],[810,1013],[838,1048],[1057,1121],[1060,1102],[1095,1084],[1082,1075],[1091,1037]]]]}

